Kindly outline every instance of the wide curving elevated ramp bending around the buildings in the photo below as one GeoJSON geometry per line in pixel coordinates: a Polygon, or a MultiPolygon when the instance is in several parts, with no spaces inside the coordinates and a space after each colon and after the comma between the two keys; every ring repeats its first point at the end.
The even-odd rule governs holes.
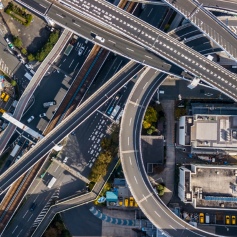
{"type": "MultiPolygon", "coordinates": [[[[138,79],[128,98],[120,129],[120,158],[129,188],[148,219],[168,236],[214,236],[204,233],[172,213],[151,187],[147,178],[140,147],[143,115],[165,75],[149,69],[144,78],[138,79]]],[[[145,74],[145,71],[144,71],[145,74]]]]}

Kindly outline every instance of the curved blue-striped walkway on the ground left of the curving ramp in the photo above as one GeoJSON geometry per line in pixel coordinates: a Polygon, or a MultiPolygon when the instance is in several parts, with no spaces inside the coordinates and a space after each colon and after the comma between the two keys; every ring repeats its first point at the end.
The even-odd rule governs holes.
{"type": "Polygon", "coordinates": [[[97,210],[94,206],[90,208],[91,213],[102,221],[109,222],[115,225],[135,226],[134,220],[114,218],[103,214],[100,210],[97,210]]]}

